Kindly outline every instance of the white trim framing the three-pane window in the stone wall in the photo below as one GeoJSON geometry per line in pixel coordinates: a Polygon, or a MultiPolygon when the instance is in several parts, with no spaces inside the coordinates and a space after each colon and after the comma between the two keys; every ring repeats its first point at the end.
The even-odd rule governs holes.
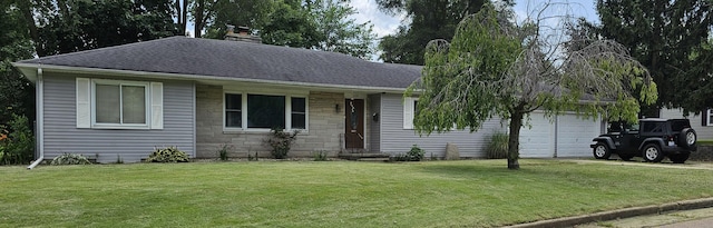
{"type": "Polygon", "coordinates": [[[250,90],[223,90],[223,131],[224,132],[270,132],[268,128],[247,128],[247,96],[283,96],[285,98],[285,131],[300,130],[303,133],[310,130],[310,97],[307,93],[280,93],[274,91],[250,91],[250,90]],[[225,95],[241,95],[241,123],[242,127],[227,127],[225,126],[225,95]],[[304,129],[292,129],[292,98],[304,98],[304,129]]]}

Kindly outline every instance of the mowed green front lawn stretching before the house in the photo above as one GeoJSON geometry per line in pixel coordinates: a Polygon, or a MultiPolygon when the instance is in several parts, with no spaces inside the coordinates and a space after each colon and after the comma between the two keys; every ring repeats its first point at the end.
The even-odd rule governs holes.
{"type": "Polygon", "coordinates": [[[712,170],[520,163],[0,167],[0,227],[488,227],[713,196],[712,170]]]}

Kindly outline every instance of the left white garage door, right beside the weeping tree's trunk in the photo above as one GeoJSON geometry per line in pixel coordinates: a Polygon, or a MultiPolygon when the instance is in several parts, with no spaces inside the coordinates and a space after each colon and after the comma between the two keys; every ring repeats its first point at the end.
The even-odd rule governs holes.
{"type": "Polygon", "coordinates": [[[555,157],[555,123],[541,112],[530,113],[529,122],[520,129],[520,158],[555,157]]]}

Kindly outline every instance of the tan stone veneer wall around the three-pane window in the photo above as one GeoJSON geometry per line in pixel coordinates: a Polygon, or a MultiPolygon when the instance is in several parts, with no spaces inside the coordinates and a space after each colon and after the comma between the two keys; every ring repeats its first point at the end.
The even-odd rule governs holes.
{"type": "MultiPolygon", "coordinates": [[[[309,132],[297,135],[289,157],[310,157],[312,151],[324,150],[330,156],[340,151],[340,137],[344,132],[344,110],[336,112],[334,105],[343,106],[344,95],[315,92],[309,95],[309,132]]],[[[266,132],[223,131],[223,87],[196,85],[196,157],[216,158],[223,145],[232,146],[228,157],[247,158],[247,153],[271,157],[263,145],[266,132]]]]}

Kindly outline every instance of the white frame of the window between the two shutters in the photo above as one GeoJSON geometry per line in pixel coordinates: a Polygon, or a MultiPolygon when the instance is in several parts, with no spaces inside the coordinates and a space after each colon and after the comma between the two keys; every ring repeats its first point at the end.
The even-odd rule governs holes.
{"type": "MultiPolygon", "coordinates": [[[[124,81],[124,80],[107,80],[107,79],[91,79],[91,128],[105,128],[105,129],[149,129],[150,126],[150,83],[146,81],[124,81]],[[145,123],[102,123],[97,122],[97,85],[110,85],[119,86],[135,86],[144,87],[144,119],[145,123]]],[[[121,105],[119,103],[119,107],[121,105]]],[[[119,111],[123,111],[119,108],[119,111]]],[[[121,115],[121,113],[120,113],[121,115]]]]}

